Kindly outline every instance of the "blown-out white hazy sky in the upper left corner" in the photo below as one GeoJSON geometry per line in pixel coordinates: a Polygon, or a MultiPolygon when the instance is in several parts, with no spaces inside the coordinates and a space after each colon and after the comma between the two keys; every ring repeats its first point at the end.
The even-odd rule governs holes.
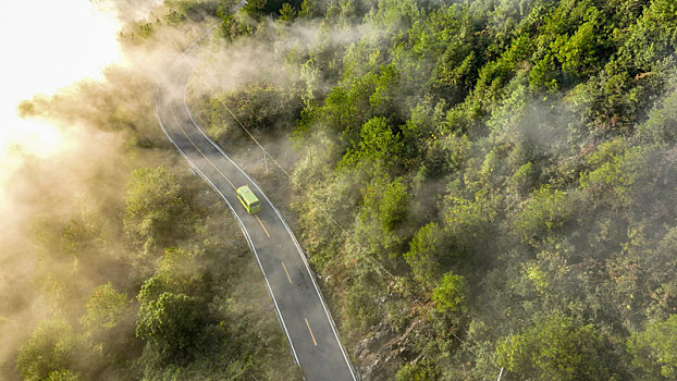
{"type": "MultiPolygon", "coordinates": [[[[0,1],[0,186],[23,151],[49,156],[67,149],[69,137],[45,121],[24,121],[16,106],[51,95],[121,60],[112,13],[89,0],[0,1]]],[[[0,187],[0,197],[1,190],[0,187]]]]}

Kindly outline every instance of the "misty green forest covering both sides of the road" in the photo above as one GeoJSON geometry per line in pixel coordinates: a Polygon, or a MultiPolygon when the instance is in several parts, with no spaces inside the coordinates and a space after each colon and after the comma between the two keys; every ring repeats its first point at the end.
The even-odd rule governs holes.
{"type": "MultiPolygon", "coordinates": [[[[130,49],[214,25],[189,106],[278,189],[365,380],[677,378],[675,1],[153,12],[121,33],[130,49]]],[[[22,106],[120,134],[124,170],[32,221],[24,287],[49,314],[0,374],[300,379],[237,224],[161,136],[144,73],[22,106]]]]}

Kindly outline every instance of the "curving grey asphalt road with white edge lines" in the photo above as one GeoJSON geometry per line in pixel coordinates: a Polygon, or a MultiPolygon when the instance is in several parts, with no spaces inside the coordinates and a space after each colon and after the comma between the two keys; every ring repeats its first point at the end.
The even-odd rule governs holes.
{"type": "Polygon", "coordinates": [[[287,336],[294,359],[307,381],[356,381],[331,314],[291,229],[263,190],[207,137],[185,100],[194,65],[183,56],[169,67],[167,83],[155,94],[155,113],[164,134],[195,171],[225,200],[254,253],[287,336]],[[235,188],[249,185],[261,211],[249,216],[235,188]]]}

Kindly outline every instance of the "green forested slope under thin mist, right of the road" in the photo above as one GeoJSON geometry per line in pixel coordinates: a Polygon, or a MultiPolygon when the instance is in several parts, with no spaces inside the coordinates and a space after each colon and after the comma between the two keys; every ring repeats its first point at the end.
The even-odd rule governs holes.
{"type": "Polygon", "coordinates": [[[225,106],[270,136],[253,118],[280,103],[251,89],[301,102],[275,124],[296,148],[288,197],[365,376],[667,380],[676,7],[250,7],[221,15],[226,51],[273,53],[256,74],[206,53],[201,73],[246,79],[217,74],[192,103],[227,145],[244,135],[225,106]]]}

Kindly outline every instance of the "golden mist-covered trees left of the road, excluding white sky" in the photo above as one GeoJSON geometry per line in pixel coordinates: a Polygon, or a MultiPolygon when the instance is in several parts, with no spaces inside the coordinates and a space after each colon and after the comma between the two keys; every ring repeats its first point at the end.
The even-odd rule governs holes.
{"type": "Polygon", "coordinates": [[[155,69],[180,57],[157,39],[216,5],[156,4],[120,35],[127,66],[20,106],[77,143],[9,183],[0,379],[299,379],[236,221],[155,120],[155,69]]]}

